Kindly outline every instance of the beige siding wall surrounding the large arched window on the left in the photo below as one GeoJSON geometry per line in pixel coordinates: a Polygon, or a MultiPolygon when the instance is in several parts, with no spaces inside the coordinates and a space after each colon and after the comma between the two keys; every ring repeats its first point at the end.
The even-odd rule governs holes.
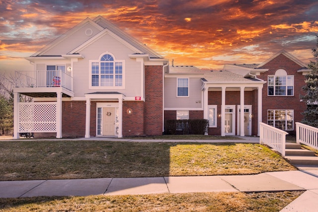
{"type": "Polygon", "coordinates": [[[83,97],[85,93],[97,91],[117,91],[126,97],[141,96],[141,63],[130,59],[129,54],[134,54],[131,49],[114,39],[110,35],[91,43],[88,47],[79,52],[85,58],[73,65],[74,93],[76,97],[83,97]],[[116,60],[125,60],[125,89],[89,89],[89,61],[98,60],[99,56],[105,52],[114,55],[116,60]]]}

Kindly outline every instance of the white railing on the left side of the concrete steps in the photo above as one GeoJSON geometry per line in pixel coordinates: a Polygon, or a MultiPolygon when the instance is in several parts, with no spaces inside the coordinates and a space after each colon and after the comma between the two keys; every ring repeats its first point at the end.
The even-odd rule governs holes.
{"type": "Polygon", "coordinates": [[[264,123],[259,123],[259,125],[259,143],[265,143],[281,153],[282,157],[285,157],[286,135],[288,133],[264,123]]]}

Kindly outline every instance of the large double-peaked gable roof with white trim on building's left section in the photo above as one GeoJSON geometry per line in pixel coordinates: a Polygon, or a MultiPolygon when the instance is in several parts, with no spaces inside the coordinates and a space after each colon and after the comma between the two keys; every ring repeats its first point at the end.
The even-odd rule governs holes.
{"type": "Polygon", "coordinates": [[[42,49],[40,49],[39,51],[34,53],[31,57],[45,56],[45,52],[49,51],[50,49],[57,46],[59,43],[61,43],[65,39],[72,36],[79,29],[81,29],[81,27],[86,23],[90,23],[93,27],[95,27],[99,31],[99,33],[97,33],[93,37],[88,38],[88,40],[86,40],[85,42],[79,43],[79,46],[77,46],[72,51],[70,51],[68,53],[61,52],[61,55],[62,54],[64,54],[64,55],[65,54],[75,54],[75,53],[77,53],[77,51],[79,51],[79,49],[84,48],[85,45],[88,45],[94,39],[99,38],[101,36],[101,34],[107,32],[107,33],[111,34],[113,37],[117,36],[119,38],[118,40],[122,40],[122,43],[124,43],[126,46],[130,47],[137,54],[149,55],[149,58],[163,58],[158,53],[156,53],[154,50],[147,47],[146,45],[144,45],[143,43],[141,43],[140,41],[138,41],[137,39],[135,39],[134,37],[132,37],[131,35],[129,35],[128,33],[126,33],[125,31],[123,31],[122,29],[120,29],[119,27],[117,27],[116,25],[114,25],[113,23],[106,20],[104,17],[102,17],[100,15],[97,16],[96,18],[94,18],[93,20],[91,20],[90,18],[84,19],[78,25],[71,28],[69,31],[67,31],[66,33],[64,33],[63,35],[61,35],[60,37],[58,37],[54,41],[52,41],[50,44],[46,45],[45,47],[43,47],[42,49]]]}

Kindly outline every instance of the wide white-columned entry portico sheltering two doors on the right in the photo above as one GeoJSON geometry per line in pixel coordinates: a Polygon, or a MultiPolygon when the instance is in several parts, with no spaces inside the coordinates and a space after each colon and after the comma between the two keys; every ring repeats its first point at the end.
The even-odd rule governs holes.
{"type": "MultiPolygon", "coordinates": [[[[223,73],[224,72],[227,71],[223,71],[223,73]]],[[[230,75],[233,75],[233,73],[230,75]]],[[[236,77],[238,77],[237,74],[236,77]]],[[[262,122],[262,88],[265,81],[244,77],[236,78],[236,80],[233,81],[229,79],[231,79],[231,77],[229,77],[227,81],[220,81],[217,77],[205,77],[202,79],[201,88],[204,96],[204,119],[211,119],[209,108],[211,108],[211,105],[215,105],[215,108],[221,108],[221,110],[218,108],[214,112],[215,119],[221,118],[221,125],[218,125],[221,128],[219,129],[221,136],[248,136],[245,135],[246,131],[244,132],[244,111],[248,111],[250,117],[253,116],[257,123],[262,122]],[[256,90],[257,92],[255,92],[256,90]],[[211,95],[209,95],[209,91],[211,95]],[[248,91],[252,91],[254,95],[253,99],[257,98],[257,102],[255,101],[253,104],[251,104],[251,102],[245,102],[245,95],[248,91]],[[220,92],[221,95],[212,98],[213,94],[220,92]],[[218,99],[216,100],[215,98],[218,99]],[[235,99],[238,100],[236,101],[235,99]],[[251,113],[252,108],[256,109],[255,114],[251,113]],[[220,111],[220,113],[217,111],[220,111]]],[[[251,127],[251,123],[249,124],[251,127]]],[[[218,126],[216,125],[215,128],[218,126]]],[[[257,124],[257,136],[258,135],[259,125],[257,124]]]]}

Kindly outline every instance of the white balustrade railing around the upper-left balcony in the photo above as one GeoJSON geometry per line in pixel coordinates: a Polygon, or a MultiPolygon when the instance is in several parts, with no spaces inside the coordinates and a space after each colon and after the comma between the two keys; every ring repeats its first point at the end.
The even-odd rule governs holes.
{"type": "Polygon", "coordinates": [[[72,76],[63,71],[16,71],[15,87],[63,87],[72,88],[72,76]]]}

